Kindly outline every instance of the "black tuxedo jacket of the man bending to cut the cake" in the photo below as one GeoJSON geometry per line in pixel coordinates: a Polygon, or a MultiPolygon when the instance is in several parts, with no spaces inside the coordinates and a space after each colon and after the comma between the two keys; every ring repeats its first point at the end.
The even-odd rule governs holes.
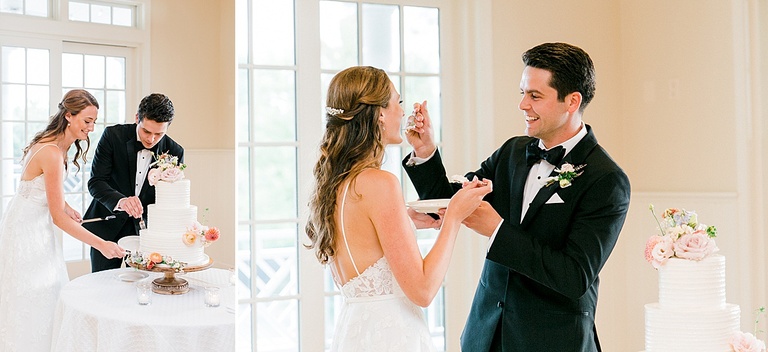
{"type": "MultiPolygon", "coordinates": [[[[139,221],[119,211],[113,214],[117,202],[134,196],[136,193],[136,124],[109,126],[96,147],[91,166],[91,178],[88,180],[88,191],[93,201],[85,211],[84,219],[103,218],[108,215],[117,216],[109,221],[97,221],[83,224],[83,227],[107,241],[139,234],[139,221]]],[[[179,162],[184,161],[184,148],[171,137],[164,136],[157,143],[156,152],[178,156],[179,162]]],[[[138,195],[144,205],[146,221],[147,205],[155,202],[155,187],[144,179],[141,194],[138,195]]]]}

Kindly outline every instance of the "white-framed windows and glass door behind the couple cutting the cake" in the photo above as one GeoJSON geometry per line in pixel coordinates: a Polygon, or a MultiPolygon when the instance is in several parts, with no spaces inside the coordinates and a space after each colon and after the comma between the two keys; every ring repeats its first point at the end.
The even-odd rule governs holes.
{"type": "MultiPolygon", "coordinates": [[[[56,111],[65,92],[84,88],[99,101],[97,126],[89,136],[89,161],[93,160],[104,128],[126,122],[126,119],[133,116],[135,107],[127,102],[135,101],[136,92],[139,91],[134,59],[139,55],[135,48],[104,43],[148,41],[146,31],[138,33],[135,28],[131,31],[126,29],[125,32],[118,30],[110,32],[111,34],[101,34],[93,28],[83,27],[82,24],[74,27],[68,21],[50,18],[47,21],[56,22],[56,26],[41,26],[40,19],[4,13],[11,12],[8,10],[11,7],[23,9],[31,3],[35,2],[0,0],[0,32],[4,33],[0,36],[0,215],[18,186],[22,149],[35,133],[47,125],[49,117],[56,111]],[[54,27],[55,32],[46,29],[54,27]],[[29,33],[34,33],[36,39],[29,38],[29,33]],[[76,37],[78,43],[70,41],[68,35],[76,37]],[[87,40],[84,38],[93,38],[95,42],[102,44],[86,44],[87,40]]],[[[44,7],[52,9],[54,13],[63,13],[63,9],[69,8],[70,15],[73,15],[72,7],[68,5],[73,5],[74,2],[44,3],[44,7]],[[55,7],[53,4],[61,7],[55,7]]],[[[139,5],[110,6],[130,8],[131,12],[135,13],[139,5]]],[[[135,22],[135,17],[132,18],[135,22]]],[[[70,160],[73,154],[74,148],[70,150],[70,160]]],[[[64,182],[67,202],[81,214],[91,202],[87,189],[90,168],[90,162],[81,165],[79,172],[74,165],[70,165],[64,182]]],[[[63,236],[62,246],[65,260],[88,259],[89,247],[82,242],[70,236],[63,236]]]]}

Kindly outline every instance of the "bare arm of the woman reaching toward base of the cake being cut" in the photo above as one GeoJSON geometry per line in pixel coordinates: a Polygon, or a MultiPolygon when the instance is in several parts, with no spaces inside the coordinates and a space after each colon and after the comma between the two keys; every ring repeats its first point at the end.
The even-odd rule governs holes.
{"type": "Polygon", "coordinates": [[[94,235],[67,213],[68,205],[64,200],[64,185],[62,183],[64,180],[64,158],[57,149],[45,149],[50,150],[41,150],[36,159],[39,158],[37,165],[41,168],[45,180],[45,195],[54,225],[70,236],[96,248],[107,258],[120,258],[125,255],[125,251],[116,243],[105,241],[94,235]]]}

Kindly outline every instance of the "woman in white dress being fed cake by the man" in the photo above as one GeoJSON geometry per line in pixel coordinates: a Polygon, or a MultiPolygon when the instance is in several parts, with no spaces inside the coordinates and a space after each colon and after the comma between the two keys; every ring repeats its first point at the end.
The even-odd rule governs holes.
{"type": "Polygon", "coordinates": [[[406,209],[397,177],[380,169],[385,146],[402,142],[404,116],[383,70],[339,72],[326,110],[306,230],[308,247],[328,264],[344,298],[331,351],[435,351],[421,307],[437,294],[461,222],[490,182],[466,183],[438,220],[406,209]],[[414,225],[440,227],[423,258],[414,225]]]}

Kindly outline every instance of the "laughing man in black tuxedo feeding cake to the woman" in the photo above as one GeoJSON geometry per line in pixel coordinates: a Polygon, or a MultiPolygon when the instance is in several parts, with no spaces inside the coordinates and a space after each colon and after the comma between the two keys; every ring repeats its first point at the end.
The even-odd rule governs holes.
{"type": "MultiPolygon", "coordinates": [[[[595,92],[589,55],[546,43],[523,62],[518,107],[527,136],[466,175],[493,180],[494,190],[464,222],[490,242],[461,348],[600,351],[598,274],[626,218],[629,179],[581,119],[595,92]]],[[[445,176],[426,107],[416,112],[414,152],[403,165],[420,198],[448,198],[458,186],[445,176]]]]}

